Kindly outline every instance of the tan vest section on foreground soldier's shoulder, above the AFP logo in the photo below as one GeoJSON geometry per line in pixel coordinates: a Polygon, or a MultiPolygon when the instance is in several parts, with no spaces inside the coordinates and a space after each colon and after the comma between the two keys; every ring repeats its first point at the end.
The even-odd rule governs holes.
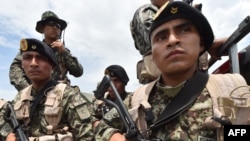
{"type": "Polygon", "coordinates": [[[217,129],[217,141],[224,140],[223,125],[250,124],[250,91],[240,74],[210,74],[206,87],[212,98],[213,117],[208,117],[205,125],[217,129]]]}

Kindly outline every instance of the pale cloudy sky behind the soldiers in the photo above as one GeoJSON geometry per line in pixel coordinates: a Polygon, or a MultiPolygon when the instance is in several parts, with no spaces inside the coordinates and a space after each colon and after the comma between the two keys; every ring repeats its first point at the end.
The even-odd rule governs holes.
{"type": "MultiPolygon", "coordinates": [[[[70,76],[72,85],[92,93],[111,64],[123,66],[130,78],[128,91],[139,86],[136,64],[141,59],[130,34],[129,23],[135,10],[150,0],[8,0],[0,1],[0,98],[11,100],[17,94],[9,81],[9,67],[19,49],[21,38],[43,39],[35,25],[44,11],[51,10],[68,22],[66,47],[84,67],[80,78],[70,76]]],[[[227,37],[247,17],[249,0],[194,0],[216,38],[227,37]]],[[[239,50],[249,45],[246,36],[239,50]]]]}

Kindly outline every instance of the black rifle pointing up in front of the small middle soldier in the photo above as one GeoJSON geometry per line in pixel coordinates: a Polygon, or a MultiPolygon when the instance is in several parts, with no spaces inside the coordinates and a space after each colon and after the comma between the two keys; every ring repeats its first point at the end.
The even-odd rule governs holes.
{"type": "Polygon", "coordinates": [[[127,108],[125,107],[119,93],[117,92],[117,89],[115,88],[113,82],[111,81],[111,79],[108,75],[105,75],[103,77],[101,83],[97,87],[97,90],[94,91],[94,95],[97,99],[103,100],[104,102],[106,102],[106,103],[112,105],[114,108],[116,108],[116,110],[120,114],[120,117],[121,117],[123,123],[126,126],[127,131],[126,131],[125,137],[129,141],[161,141],[159,139],[152,139],[152,140],[144,139],[144,137],[141,135],[138,128],[136,127],[134,121],[132,120],[131,116],[129,115],[127,108]],[[113,89],[115,96],[116,96],[116,100],[118,101],[117,102],[118,104],[115,104],[111,100],[104,98],[104,94],[107,91],[109,86],[111,86],[111,88],[113,89]]]}

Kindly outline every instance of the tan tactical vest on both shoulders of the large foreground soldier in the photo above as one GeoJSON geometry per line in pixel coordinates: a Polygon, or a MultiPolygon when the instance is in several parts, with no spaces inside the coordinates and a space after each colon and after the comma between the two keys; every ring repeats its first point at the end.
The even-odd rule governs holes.
{"type": "MultiPolygon", "coordinates": [[[[148,127],[145,112],[140,107],[151,108],[148,97],[156,81],[141,86],[133,94],[129,113],[141,132],[145,132],[148,127]]],[[[240,74],[210,74],[206,88],[212,99],[215,117],[228,117],[232,124],[250,124],[250,91],[240,74]]],[[[219,122],[207,117],[204,124],[209,128],[217,128],[217,140],[223,141],[223,127],[219,122]]],[[[148,137],[147,132],[143,136],[148,137]]]]}

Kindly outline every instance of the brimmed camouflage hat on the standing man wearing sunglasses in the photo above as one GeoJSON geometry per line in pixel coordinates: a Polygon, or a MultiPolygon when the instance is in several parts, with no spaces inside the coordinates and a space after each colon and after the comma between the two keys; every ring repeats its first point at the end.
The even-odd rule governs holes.
{"type": "Polygon", "coordinates": [[[67,27],[67,23],[64,20],[59,19],[58,16],[54,12],[45,11],[42,14],[41,20],[36,23],[36,31],[39,33],[43,33],[42,32],[43,26],[45,25],[45,23],[51,20],[59,23],[61,25],[61,28],[60,28],[61,30],[64,30],[67,27]]]}

